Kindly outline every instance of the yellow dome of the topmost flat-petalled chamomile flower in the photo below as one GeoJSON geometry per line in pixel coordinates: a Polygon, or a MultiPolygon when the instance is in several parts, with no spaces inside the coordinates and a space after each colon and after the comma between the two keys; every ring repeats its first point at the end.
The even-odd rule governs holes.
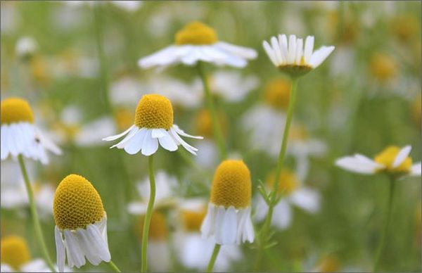
{"type": "Polygon", "coordinates": [[[193,21],[176,33],[176,44],[214,44],[217,34],[212,27],[193,21]]]}

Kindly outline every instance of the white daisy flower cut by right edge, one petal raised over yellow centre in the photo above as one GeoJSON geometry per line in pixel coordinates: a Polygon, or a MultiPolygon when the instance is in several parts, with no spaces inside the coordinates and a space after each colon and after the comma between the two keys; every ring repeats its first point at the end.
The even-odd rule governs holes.
{"type": "Polygon", "coordinates": [[[385,172],[394,175],[421,176],[421,163],[412,165],[409,158],[411,146],[399,148],[388,146],[372,160],[359,153],[352,156],[345,156],[335,161],[335,165],[350,172],[360,174],[376,174],[385,172]]]}

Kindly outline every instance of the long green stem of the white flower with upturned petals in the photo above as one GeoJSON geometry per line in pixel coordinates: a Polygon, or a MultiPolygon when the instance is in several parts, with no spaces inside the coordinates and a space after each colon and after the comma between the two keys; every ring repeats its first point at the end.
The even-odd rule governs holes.
{"type": "Polygon", "coordinates": [[[267,234],[268,234],[268,231],[269,231],[269,227],[271,225],[274,206],[276,205],[275,201],[277,199],[277,193],[279,191],[280,174],[281,174],[281,170],[283,168],[284,157],[286,155],[288,134],[289,134],[289,131],[290,131],[290,124],[292,122],[293,112],[295,110],[296,89],[298,88],[298,82],[299,82],[298,77],[294,77],[292,79],[292,91],[290,93],[290,101],[288,103],[286,125],[284,125],[283,140],[281,141],[279,161],[277,162],[274,186],[273,186],[273,189],[270,193],[271,203],[269,204],[267,217],[265,218],[264,225],[262,226],[262,230],[260,232],[261,240],[259,242],[260,244],[257,246],[257,256],[256,256],[256,260],[255,260],[255,270],[257,270],[260,267],[260,261],[261,261],[261,258],[262,258],[262,251],[264,249],[265,243],[267,243],[267,234]]]}

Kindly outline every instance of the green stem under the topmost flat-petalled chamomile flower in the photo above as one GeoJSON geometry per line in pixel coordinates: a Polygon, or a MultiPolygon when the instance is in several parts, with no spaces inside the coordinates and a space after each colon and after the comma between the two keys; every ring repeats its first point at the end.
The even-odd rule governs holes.
{"type": "Polygon", "coordinates": [[[224,144],[222,129],[219,125],[219,120],[218,120],[217,112],[215,110],[215,105],[214,105],[214,99],[212,99],[210,87],[208,86],[207,76],[205,75],[203,63],[201,61],[198,61],[198,65],[196,65],[196,67],[198,68],[200,80],[202,80],[203,82],[205,99],[207,101],[207,107],[211,115],[213,136],[215,137],[215,141],[217,141],[220,158],[224,160],[227,157],[226,145],[224,144]]]}

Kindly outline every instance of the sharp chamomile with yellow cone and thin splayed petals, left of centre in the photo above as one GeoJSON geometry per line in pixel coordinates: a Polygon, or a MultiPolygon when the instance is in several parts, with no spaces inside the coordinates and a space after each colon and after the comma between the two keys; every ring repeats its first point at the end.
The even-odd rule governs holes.
{"type": "Polygon", "coordinates": [[[141,151],[147,156],[158,150],[158,144],[167,151],[176,151],[181,145],[196,155],[198,149],[187,144],[180,136],[203,139],[202,136],[186,134],[174,125],[172,103],[165,96],[157,94],[142,96],[136,107],[134,125],[121,134],[108,136],[103,140],[113,141],[124,135],[124,139],[111,148],[124,148],[124,151],[131,155],[141,151]]]}

